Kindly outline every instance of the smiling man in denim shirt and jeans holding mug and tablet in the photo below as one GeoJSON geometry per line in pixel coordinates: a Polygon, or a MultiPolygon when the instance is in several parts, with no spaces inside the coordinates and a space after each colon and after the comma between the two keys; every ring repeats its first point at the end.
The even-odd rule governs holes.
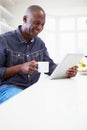
{"type": "MultiPolygon", "coordinates": [[[[43,30],[45,17],[40,6],[32,5],[17,30],[0,35],[0,103],[38,81],[38,61],[49,62],[48,75],[56,68],[44,42],[37,37],[43,30]]],[[[68,77],[75,76],[77,67],[66,73],[68,77]]]]}

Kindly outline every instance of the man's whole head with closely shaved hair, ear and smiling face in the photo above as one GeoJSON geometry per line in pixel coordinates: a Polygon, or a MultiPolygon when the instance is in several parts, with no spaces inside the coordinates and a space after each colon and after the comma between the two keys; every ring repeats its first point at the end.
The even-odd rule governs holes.
{"type": "Polygon", "coordinates": [[[30,38],[35,37],[43,30],[44,24],[45,12],[40,6],[32,5],[26,9],[22,25],[23,34],[30,38]]]}

